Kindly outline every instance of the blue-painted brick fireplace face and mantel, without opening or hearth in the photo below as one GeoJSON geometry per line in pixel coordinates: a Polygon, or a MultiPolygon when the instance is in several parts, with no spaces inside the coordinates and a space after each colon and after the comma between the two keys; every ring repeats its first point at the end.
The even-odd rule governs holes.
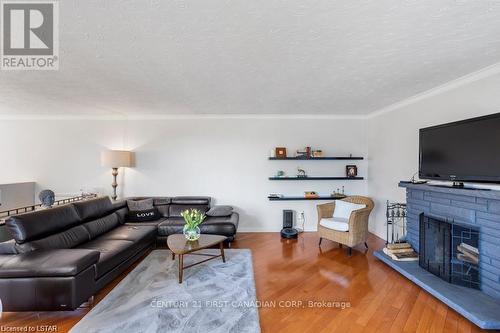
{"type": "Polygon", "coordinates": [[[477,230],[480,289],[500,299],[500,192],[408,183],[400,186],[406,188],[408,240],[413,248],[420,252],[421,214],[477,230]]]}

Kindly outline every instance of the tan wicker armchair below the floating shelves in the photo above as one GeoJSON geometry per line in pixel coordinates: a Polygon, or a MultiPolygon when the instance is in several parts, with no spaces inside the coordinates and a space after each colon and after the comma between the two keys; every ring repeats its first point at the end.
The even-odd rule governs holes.
{"type": "Polygon", "coordinates": [[[351,255],[351,248],[360,243],[364,243],[365,247],[368,249],[368,245],[366,244],[366,238],[368,236],[368,217],[373,210],[374,203],[372,199],[362,196],[352,196],[342,200],[356,204],[364,204],[366,207],[351,213],[349,218],[349,231],[336,231],[319,224],[322,218],[330,218],[333,216],[335,202],[318,205],[319,245],[321,245],[323,238],[326,238],[339,243],[341,247],[342,244],[348,246],[349,255],[351,255]]]}

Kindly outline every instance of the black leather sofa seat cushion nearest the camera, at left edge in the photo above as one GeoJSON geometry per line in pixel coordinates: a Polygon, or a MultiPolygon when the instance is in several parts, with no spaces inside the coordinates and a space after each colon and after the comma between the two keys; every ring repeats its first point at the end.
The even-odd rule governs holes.
{"type": "Polygon", "coordinates": [[[39,250],[0,256],[0,278],[75,276],[99,260],[90,249],[39,250]]]}

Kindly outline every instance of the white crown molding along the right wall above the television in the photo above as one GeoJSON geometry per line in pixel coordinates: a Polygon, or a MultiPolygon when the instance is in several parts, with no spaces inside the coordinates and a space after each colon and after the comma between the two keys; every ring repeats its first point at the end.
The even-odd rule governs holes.
{"type": "Polygon", "coordinates": [[[482,68],[478,71],[472,72],[470,74],[461,76],[455,80],[448,81],[440,86],[437,86],[437,87],[434,87],[432,89],[421,92],[419,94],[413,95],[409,98],[406,98],[402,101],[399,101],[397,103],[386,106],[382,109],[370,112],[365,116],[365,118],[371,119],[371,118],[375,118],[375,117],[384,115],[384,114],[389,113],[389,112],[396,111],[399,108],[417,103],[417,102],[424,100],[426,98],[430,98],[430,97],[442,94],[444,92],[459,88],[459,87],[464,86],[466,84],[473,83],[475,81],[487,78],[489,76],[492,76],[492,75],[495,75],[498,73],[500,73],[500,62],[493,64],[493,65],[490,65],[488,67],[482,68]]]}

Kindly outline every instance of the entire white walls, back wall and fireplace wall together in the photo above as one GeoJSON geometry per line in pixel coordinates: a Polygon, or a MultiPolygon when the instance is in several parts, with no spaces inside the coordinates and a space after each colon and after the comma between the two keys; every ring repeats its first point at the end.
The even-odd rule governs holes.
{"type": "Polygon", "coordinates": [[[385,237],[385,201],[405,200],[400,180],[418,169],[418,129],[500,111],[500,74],[467,78],[367,119],[193,117],[150,120],[0,120],[0,183],[36,181],[59,195],[80,189],[109,194],[104,149],[133,149],[137,166],[120,170],[120,195],[210,195],[241,212],[240,231],[277,231],[281,210],[305,211],[316,226],[317,202],[269,202],[267,194],[369,194],[370,230],[385,237]],[[356,164],[367,181],[269,181],[276,170],[343,175],[344,162],[268,161],[275,146],[310,145],[327,155],[368,156],[356,164]],[[369,165],[369,168],[368,168],[369,165]]]}

